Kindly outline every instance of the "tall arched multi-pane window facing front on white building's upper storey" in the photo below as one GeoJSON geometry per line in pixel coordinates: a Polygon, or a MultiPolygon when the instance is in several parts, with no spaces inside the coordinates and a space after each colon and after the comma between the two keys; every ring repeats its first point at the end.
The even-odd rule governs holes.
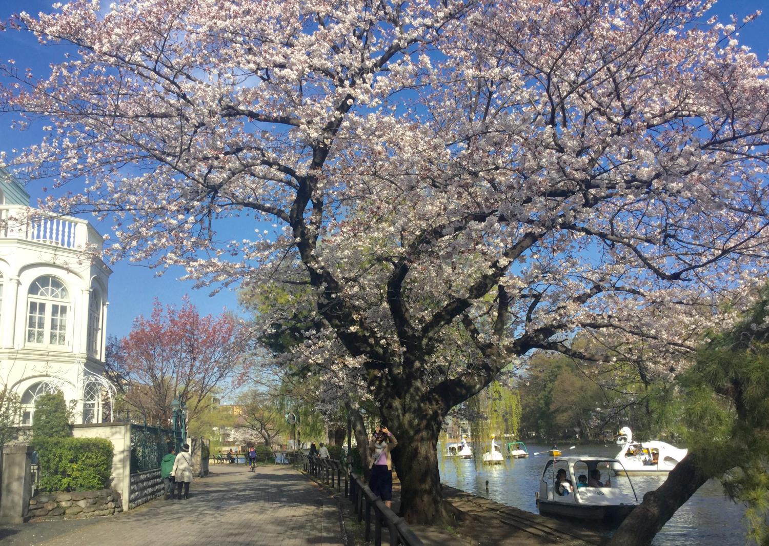
{"type": "Polygon", "coordinates": [[[69,292],[58,278],[46,275],[29,287],[27,343],[66,345],[69,292]]]}

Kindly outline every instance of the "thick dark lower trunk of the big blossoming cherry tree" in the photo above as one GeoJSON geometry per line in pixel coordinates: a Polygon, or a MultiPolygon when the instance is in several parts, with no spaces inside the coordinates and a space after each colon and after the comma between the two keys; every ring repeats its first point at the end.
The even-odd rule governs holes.
{"type": "Polygon", "coordinates": [[[437,525],[448,521],[438,471],[443,420],[427,410],[412,408],[401,419],[388,416],[388,428],[398,438],[393,463],[401,481],[401,516],[412,524],[437,525]]]}

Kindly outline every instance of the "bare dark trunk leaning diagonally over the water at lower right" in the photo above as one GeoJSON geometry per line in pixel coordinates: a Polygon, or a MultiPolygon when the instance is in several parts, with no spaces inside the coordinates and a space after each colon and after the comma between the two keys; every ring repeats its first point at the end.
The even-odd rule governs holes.
{"type": "Polygon", "coordinates": [[[646,546],[678,508],[707,481],[696,454],[687,454],[667,475],[657,490],[644,494],[644,501],[622,522],[607,546],[646,546]]]}

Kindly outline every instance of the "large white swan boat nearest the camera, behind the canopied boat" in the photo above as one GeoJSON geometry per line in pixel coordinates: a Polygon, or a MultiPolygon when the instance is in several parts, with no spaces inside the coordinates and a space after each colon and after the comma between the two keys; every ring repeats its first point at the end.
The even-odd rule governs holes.
{"type": "Polygon", "coordinates": [[[615,474],[667,473],[686,457],[688,451],[659,440],[633,441],[630,427],[620,429],[617,443],[622,446],[617,454],[621,466],[614,467],[615,474]]]}

